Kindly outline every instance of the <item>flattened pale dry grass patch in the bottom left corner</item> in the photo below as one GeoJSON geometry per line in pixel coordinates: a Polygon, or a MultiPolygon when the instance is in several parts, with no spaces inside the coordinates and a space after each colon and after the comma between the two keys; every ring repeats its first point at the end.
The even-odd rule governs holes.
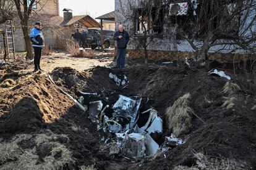
{"type": "Polygon", "coordinates": [[[67,138],[64,135],[56,135],[51,132],[31,136],[21,134],[15,136],[11,141],[0,144],[0,169],[62,169],[67,164],[73,163],[72,153],[67,147],[57,140],[67,138]],[[30,141],[30,148],[20,147],[23,140],[30,141]],[[36,148],[47,145],[51,148],[50,154],[39,162],[36,148]],[[58,155],[58,156],[56,156],[58,155]]]}

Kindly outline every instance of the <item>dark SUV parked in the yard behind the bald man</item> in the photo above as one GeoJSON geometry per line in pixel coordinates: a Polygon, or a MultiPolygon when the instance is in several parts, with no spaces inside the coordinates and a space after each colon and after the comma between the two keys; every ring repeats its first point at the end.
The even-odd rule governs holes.
{"type": "MultiPolygon", "coordinates": [[[[90,29],[86,37],[87,45],[92,47],[92,49],[97,47],[95,31],[100,32],[101,30],[90,29]]],[[[103,30],[103,46],[105,46],[105,49],[114,46],[114,31],[103,30]]]]}

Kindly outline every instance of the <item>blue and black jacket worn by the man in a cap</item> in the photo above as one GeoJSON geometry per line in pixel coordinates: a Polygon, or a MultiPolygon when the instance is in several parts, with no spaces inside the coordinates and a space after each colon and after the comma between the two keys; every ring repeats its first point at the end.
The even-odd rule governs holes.
{"type": "Polygon", "coordinates": [[[45,47],[45,38],[43,37],[42,32],[38,28],[33,28],[30,31],[30,40],[32,41],[33,47],[45,47]]]}

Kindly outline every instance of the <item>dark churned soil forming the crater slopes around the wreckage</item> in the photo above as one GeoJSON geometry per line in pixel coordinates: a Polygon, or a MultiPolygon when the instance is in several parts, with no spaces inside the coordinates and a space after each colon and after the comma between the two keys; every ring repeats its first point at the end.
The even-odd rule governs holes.
{"type": "MultiPolygon", "coordinates": [[[[17,134],[37,134],[48,129],[54,134],[65,134],[65,142],[72,152],[74,163],[64,169],[79,169],[94,165],[97,169],[173,169],[174,166],[194,166],[195,152],[218,158],[244,161],[256,168],[256,115],[252,110],[256,103],[255,84],[245,74],[231,75],[232,82],[241,87],[238,99],[232,109],[221,107],[222,92],[227,79],[210,76],[205,69],[190,70],[185,67],[160,65],[129,67],[123,70],[95,67],[83,72],[72,68],[55,68],[50,75],[55,83],[78,99],[82,92],[96,92],[96,97],[83,95],[85,103],[103,100],[103,105],[112,105],[118,95],[140,96],[149,99],[142,110],[155,108],[164,120],[163,136],[157,141],[163,143],[164,136],[170,136],[164,112],[184,94],[191,94],[191,107],[197,116],[192,117],[189,131],[181,134],[185,144],[175,147],[164,155],[140,160],[127,160],[122,156],[109,156],[101,151],[103,132],[83,113],[75,103],[62,94],[45,75],[23,75],[12,71],[1,76],[1,81],[12,78],[15,85],[1,89],[0,137],[8,141],[17,134]],[[126,75],[127,87],[116,86],[109,73],[126,75]],[[16,75],[15,75],[16,74],[16,75]],[[17,76],[18,74],[18,76],[17,76]]],[[[107,111],[108,112],[108,111],[107,111]]],[[[1,140],[0,140],[1,141],[1,140]]],[[[30,147],[29,145],[27,147],[30,147]]],[[[50,149],[40,149],[40,158],[50,149]]],[[[1,167],[1,164],[0,164],[1,167]]]]}

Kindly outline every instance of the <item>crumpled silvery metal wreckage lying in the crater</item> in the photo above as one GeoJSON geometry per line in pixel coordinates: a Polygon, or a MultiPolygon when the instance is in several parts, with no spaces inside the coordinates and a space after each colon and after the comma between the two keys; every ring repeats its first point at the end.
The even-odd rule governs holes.
{"type": "MultiPolygon", "coordinates": [[[[122,88],[129,84],[125,75],[116,76],[109,73],[109,78],[113,79],[116,86],[122,88]]],[[[95,93],[80,93],[96,95],[95,93]]],[[[80,97],[79,102],[83,103],[83,96],[80,97]]],[[[102,140],[105,145],[101,150],[109,150],[110,155],[121,155],[129,159],[143,158],[155,155],[158,150],[166,152],[169,148],[183,143],[173,134],[166,137],[161,146],[156,143],[163,133],[163,119],[154,108],[141,111],[141,107],[142,97],[138,96],[119,95],[116,103],[105,107],[101,100],[90,102],[88,118],[98,124],[98,130],[102,129],[106,134],[110,134],[108,137],[103,136],[102,140]],[[113,110],[111,116],[105,114],[107,108],[113,110]],[[143,121],[140,121],[141,118],[143,121]]]]}

